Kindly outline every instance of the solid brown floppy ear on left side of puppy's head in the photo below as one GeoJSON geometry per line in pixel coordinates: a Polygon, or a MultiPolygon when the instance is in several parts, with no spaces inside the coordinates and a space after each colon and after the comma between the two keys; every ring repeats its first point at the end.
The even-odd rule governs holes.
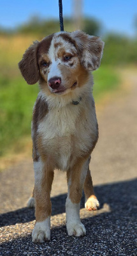
{"type": "Polygon", "coordinates": [[[18,63],[20,72],[28,84],[35,84],[40,77],[37,64],[37,47],[39,42],[35,41],[24,53],[22,60],[18,63]]]}

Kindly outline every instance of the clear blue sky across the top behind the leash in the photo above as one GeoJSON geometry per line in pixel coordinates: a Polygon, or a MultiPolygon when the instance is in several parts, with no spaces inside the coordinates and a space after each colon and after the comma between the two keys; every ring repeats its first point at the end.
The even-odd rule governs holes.
{"type": "MultiPolygon", "coordinates": [[[[63,15],[71,17],[73,0],[62,0],[62,4],[63,15]]],[[[0,26],[4,28],[14,28],[33,15],[58,19],[58,0],[0,0],[0,26]]],[[[83,0],[83,15],[99,20],[106,31],[133,36],[137,0],[83,0]]]]}

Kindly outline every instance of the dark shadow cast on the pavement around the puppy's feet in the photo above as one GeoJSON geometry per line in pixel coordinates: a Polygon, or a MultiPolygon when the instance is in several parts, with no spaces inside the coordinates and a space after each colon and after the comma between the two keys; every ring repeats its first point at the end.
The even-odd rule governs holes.
{"type": "MultiPolygon", "coordinates": [[[[62,225],[52,228],[51,241],[34,244],[31,235],[22,230],[21,236],[1,244],[1,255],[5,255],[5,250],[6,255],[136,255],[136,188],[137,179],[96,186],[101,207],[109,204],[112,211],[92,218],[83,216],[87,230],[85,237],[68,237],[66,226],[62,225]]],[[[52,215],[64,212],[65,200],[66,194],[52,198],[52,215]]],[[[32,220],[34,209],[23,208],[1,214],[1,226],[32,220]]]]}

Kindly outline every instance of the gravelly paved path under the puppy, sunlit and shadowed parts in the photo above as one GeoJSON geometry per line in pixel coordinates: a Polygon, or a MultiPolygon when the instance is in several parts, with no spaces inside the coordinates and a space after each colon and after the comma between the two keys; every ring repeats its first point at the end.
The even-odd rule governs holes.
{"type": "Polygon", "coordinates": [[[97,212],[87,212],[82,198],[80,216],[87,236],[68,237],[66,173],[55,172],[51,241],[31,242],[34,209],[27,209],[26,202],[34,177],[32,160],[24,159],[0,173],[0,256],[137,255],[137,75],[128,71],[122,77],[129,92],[115,93],[103,111],[97,111],[99,141],[90,170],[101,207],[97,212]]]}

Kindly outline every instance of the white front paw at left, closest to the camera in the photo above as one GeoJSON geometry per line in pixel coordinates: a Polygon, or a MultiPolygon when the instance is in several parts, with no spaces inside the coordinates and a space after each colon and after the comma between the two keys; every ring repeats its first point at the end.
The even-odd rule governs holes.
{"type": "Polygon", "coordinates": [[[44,243],[50,240],[50,222],[48,218],[45,221],[36,222],[34,230],[32,231],[33,243],[44,243]]]}

